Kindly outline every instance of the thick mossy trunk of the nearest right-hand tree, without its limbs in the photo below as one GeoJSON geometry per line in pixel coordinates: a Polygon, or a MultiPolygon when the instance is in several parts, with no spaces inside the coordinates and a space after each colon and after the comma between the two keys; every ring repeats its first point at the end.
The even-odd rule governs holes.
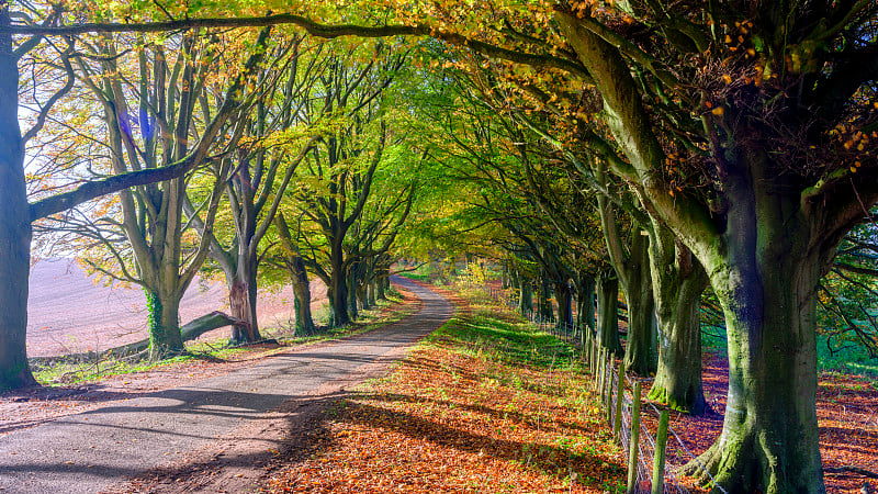
{"type": "Polygon", "coordinates": [[[817,290],[847,229],[826,221],[822,201],[766,187],[775,171],[758,161],[762,153],[742,156],[751,168],[729,175],[721,243],[690,245],[722,306],[729,341],[722,434],[700,461],[733,492],[822,494],[817,290]]]}

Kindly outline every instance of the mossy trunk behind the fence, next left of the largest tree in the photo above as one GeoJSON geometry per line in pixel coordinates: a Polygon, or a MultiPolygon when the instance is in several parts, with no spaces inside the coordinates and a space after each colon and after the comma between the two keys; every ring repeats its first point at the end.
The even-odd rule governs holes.
{"type": "Polygon", "coordinates": [[[671,408],[702,415],[710,412],[701,384],[701,293],[707,273],[691,251],[653,223],[650,243],[655,313],[658,317],[658,369],[649,397],[671,408]]]}

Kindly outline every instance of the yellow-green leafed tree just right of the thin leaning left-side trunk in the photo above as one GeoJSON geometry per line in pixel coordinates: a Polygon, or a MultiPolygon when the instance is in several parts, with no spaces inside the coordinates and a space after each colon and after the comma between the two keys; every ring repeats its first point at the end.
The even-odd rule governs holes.
{"type": "Polygon", "coordinates": [[[339,49],[308,103],[307,119],[320,121],[320,139],[305,157],[293,198],[314,235],[299,250],[305,266],[327,287],[330,326],[351,322],[350,268],[346,242],[367,210],[375,172],[398,136],[387,128],[385,91],[405,54],[391,44],[339,49]],[[367,58],[368,57],[368,58],[367,58]]]}

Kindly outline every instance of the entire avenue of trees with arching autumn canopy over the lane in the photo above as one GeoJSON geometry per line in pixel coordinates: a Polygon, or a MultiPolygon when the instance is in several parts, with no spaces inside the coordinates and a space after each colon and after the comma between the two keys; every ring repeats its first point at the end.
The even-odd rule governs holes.
{"type": "Polygon", "coordinates": [[[395,254],[479,252],[693,414],[712,307],[700,464],[825,492],[819,335],[878,352],[876,2],[194,3],[0,1],[0,389],[33,383],[35,226],[144,288],[151,358],[205,267],[241,343],[266,265],[312,333],[308,277],[345,325],[395,254]]]}

